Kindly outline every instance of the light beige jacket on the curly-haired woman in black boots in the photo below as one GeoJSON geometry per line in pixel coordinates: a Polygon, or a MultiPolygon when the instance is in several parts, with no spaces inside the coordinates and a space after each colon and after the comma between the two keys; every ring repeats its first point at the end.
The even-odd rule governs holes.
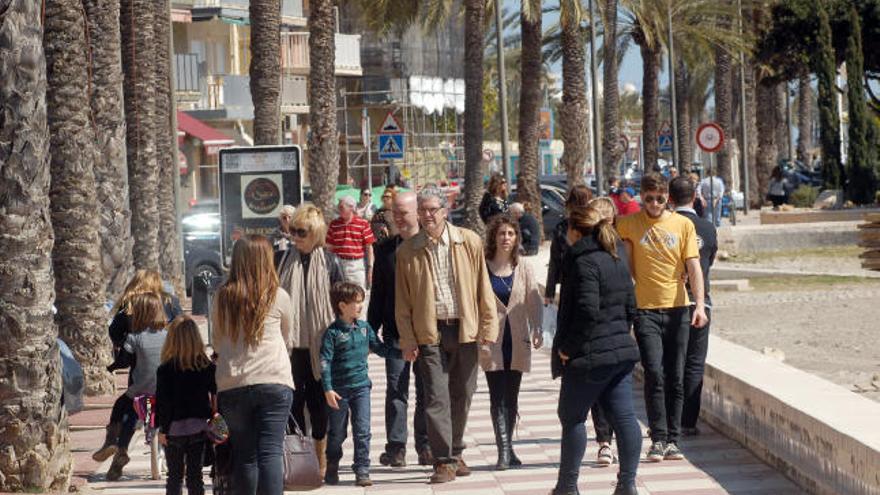
{"type": "Polygon", "coordinates": [[[498,310],[498,340],[494,344],[480,346],[480,366],[483,371],[504,369],[501,342],[504,323],[510,322],[511,348],[510,369],[528,373],[532,369],[532,335],[541,333],[544,299],[538,289],[532,269],[519,263],[513,271],[513,287],[507,306],[494,297],[498,310]]]}

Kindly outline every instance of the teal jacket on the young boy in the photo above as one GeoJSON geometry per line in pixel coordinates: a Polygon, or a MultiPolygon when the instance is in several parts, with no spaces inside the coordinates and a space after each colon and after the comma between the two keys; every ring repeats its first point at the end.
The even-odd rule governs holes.
{"type": "Polygon", "coordinates": [[[363,320],[346,324],[337,318],[331,323],[321,341],[321,382],[324,391],[370,386],[367,371],[370,351],[382,357],[394,353],[363,320]]]}

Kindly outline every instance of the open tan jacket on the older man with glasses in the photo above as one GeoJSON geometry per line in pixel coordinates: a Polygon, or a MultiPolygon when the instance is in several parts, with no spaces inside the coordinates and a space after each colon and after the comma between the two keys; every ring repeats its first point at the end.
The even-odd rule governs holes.
{"type": "MultiPolygon", "coordinates": [[[[495,294],[483,258],[483,243],[470,230],[448,222],[446,228],[449,229],[449,249],[461,320],[459,342],[480,339],[495,342],[498,317],[495,294]]],[[[401,347],[440,343],[434,307],[434,271],[424,230],[406,240],[397,250],[394,301],[401,347]]]]}

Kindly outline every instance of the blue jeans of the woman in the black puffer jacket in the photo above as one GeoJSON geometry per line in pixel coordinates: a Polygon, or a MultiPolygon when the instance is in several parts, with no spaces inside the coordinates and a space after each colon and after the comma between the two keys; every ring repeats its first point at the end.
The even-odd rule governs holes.
{"type": "Polygon", "coordinates": [[[620,471],[617,482],[636,482],[642,432],[632,401],[632,363],[594,368],[587,373],[564,370],[559,391],[559,421],[562,423],[562,452],[555,492],[577,493],[578,474],[587,448],[587,412],[597,401],[608,414],[617,434],[620,471]]]}

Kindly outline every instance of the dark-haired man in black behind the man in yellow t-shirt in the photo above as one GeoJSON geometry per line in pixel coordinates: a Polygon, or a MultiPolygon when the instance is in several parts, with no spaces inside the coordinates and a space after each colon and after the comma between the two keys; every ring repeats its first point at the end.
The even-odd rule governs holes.
{"type": "MultiPolygon", "coordinates": [[[[709,350],[709,325],[712,323],[712,298],[709,295],[709,271],[718,252],[718,234],[712,222],[700,218],[694,211],[696,183],[688,177],[676,177],[669,183],[669,203],[675,212],[694,224],[697,246],[700,248],[700,268],[703,272],[703,298],[706,303],[706,325],[691,328],[684,363],[684,405],[681,413],[681,431],[684,435],[696,435],[697,418],[700,417],[700,396],[703,393],[703,371],[709,350]]],[[[694,301],[693,290],[688,285],[688,297],[694,301]]],[[[693,305],[691,306],[694,307],[693,305]]]]}

